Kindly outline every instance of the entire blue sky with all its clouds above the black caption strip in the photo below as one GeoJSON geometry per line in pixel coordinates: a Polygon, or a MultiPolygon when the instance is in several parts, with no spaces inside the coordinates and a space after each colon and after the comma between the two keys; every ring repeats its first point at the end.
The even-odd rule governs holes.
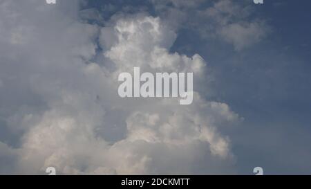
{"type": "Polygon", "coordinates": [[[311,174],[308,0],[0,0],[0,174],[311,174]],[[194,73],[194,101],[117,76],[194,73]]]}

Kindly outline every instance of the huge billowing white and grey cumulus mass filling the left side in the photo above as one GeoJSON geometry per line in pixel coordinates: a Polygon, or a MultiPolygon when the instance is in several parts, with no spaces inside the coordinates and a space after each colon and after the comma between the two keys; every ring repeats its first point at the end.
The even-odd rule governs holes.
{"type": "Polygon", "coordinates": [[[238,115],[201,97],[206,62],[171,53],[177,33],[162,19],[126,15],[100,27],[79,17],[78,1],[4,0],[0,10],[0,112],[19,136],[17,147],[0,143],[0,160],[15,159],[9,172],[234,173],[229,138],[218,128],[238,115]],[[117,75],[133,66],[193,72],[194,102],[120,98],[117,75]]]}

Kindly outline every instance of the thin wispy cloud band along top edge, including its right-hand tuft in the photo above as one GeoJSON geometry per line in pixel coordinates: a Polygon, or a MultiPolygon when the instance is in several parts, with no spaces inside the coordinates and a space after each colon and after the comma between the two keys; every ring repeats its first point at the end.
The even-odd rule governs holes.
{"type": "Polygon", "coordinates": [[[203,39],[215,37],[232,44],[236,51],[260,42],[270,32],[270,27],[263,19],[252,18],[254,11],[249,1],[152,2],[174,28],[195,30],[203,39]],[[207,3],[211,5],[206,6],[207,3]]]}

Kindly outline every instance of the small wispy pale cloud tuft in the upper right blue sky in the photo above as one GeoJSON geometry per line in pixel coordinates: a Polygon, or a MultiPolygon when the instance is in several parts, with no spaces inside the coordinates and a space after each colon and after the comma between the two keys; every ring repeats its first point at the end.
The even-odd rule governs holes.
{"type": "Polygon", "coordinates": [[[234,1],[217,1],[200,14],[215,20],[216,35],[232,44],[237,51],[259,42],[269,30],[265,21],[249,18],[252,15],[249,6],[241,6],[234,1]]]}

